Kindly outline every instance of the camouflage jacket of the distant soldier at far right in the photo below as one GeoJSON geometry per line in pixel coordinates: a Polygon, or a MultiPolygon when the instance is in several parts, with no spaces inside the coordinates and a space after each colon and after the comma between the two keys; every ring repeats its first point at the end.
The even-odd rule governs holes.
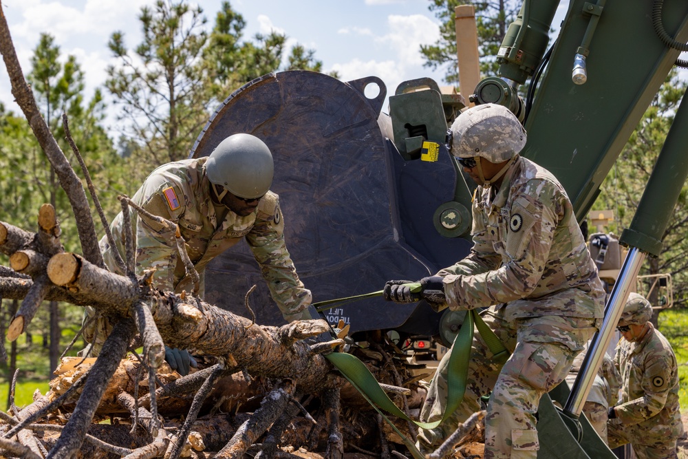
{"type": "Polygon", "coordinates": [[[669,341],[652,323],[640,341],[619,341],[614,363],[621,374],[621,395],[614,411],[624,425],[641,429],[663,425],[666,436],[682,431],[678,406],[678,365],[669,341]]]}

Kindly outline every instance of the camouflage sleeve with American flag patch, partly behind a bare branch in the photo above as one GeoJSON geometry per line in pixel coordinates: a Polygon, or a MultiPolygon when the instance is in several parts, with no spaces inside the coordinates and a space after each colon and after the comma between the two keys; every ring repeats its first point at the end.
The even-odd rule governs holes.
{"type": "MultiPolygon", "coordinates": [[[[184,212],[184,198],[178,185],[151,175],[142,189],[141,206],[153,215],[178,223],[184,212]]],[[[136,223],[136,273],[155,268],[153,285],[161,290],[174,290],[174,268],[177,263],[175,232],[140,215],[136,223]]]]}

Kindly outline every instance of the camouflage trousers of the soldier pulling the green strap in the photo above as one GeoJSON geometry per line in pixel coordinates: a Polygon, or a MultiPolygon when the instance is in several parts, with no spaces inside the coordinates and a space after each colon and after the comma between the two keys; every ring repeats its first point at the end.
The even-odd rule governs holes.
{"type": "MultiPolygon", "coordinates": [[[[495,361],[475,332],[462,404],[436,429],[420,429],[418,447],[437,449],[460,423],[480,411],[480,398],[490,394],[485,418],[485,459],[535,459],[539,442],[535,413],[543,394],[566,378],[573,359],[596,330],[594,319],[546,316],[506,321],[494,306],[481,315],[510,352],[495,361]]],[[[423,404],[420,418],[438,420],[447,403],[451,349],[442,358],[423,404]]]]}

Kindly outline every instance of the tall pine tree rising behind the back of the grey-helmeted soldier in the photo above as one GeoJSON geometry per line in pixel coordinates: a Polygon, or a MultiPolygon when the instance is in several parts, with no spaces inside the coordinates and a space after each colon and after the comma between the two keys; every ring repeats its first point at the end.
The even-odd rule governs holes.
{"type": "Polygon", "coordinates": [[[206,122],[202,11],[184,1],[159,0],[141,8],[143,40],[132,52],[121,32],[108,43],[118,65],[107,68],[105,86],[121,107],[125,134],[142,146],[147,157],[140,159],[148,164],[186,158],[206,122]]]}

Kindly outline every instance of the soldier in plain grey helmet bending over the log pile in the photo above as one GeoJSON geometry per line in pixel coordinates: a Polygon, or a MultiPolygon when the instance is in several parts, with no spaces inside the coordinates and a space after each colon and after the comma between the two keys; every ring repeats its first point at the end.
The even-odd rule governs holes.
{"type": "MultiPolygon", "coordinates": [[[[272,154],[267,145],[255,136],[235,134],[220,142],[207,158],[158,167],[133,201],[149,213],[178,224],[186,252],[201,277],[200,295],[208,262],[246,239],[283,317],[287,321],[311,319],[311,293],[304,288],[287,250],[279,198],[269,191],[272,175],[272,154]]],[[[193,281],[186,275],[174,231],[138,216],[136,211],[131,210],[129,215],[135,228],[136,273],[155,268],[153,286],[176,293],[191,292],[193,281]]],[[[124,273],[115,263],[113,252],[125,253],[125,229],[120,213],[111,224],[117,248],[110,246],[105,237],[100,240],[105,263],[119,274],[124,273]]],[[[86,314],[92,317],[96,312],[87,308],[86,314]]],[[[84,331],[95,355],[110,330],[107,318],[99,317],[84,331]]]]}

